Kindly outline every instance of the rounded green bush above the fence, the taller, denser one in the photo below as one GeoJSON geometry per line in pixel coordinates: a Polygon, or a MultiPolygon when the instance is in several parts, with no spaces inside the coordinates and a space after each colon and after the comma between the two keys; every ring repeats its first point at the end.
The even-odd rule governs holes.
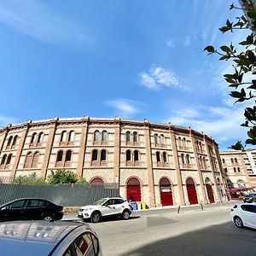
{"type": "Polygon", "coordinates": [[[51,171],[48,176],[48,183],[76,183],[78,178],[72,171],[66,169],[57,169],[56,171],[51,171]]]}

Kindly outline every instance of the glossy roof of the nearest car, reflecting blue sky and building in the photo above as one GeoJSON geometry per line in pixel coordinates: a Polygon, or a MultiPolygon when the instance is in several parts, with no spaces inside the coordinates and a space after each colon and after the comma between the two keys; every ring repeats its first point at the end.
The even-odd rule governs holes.
{"type": "Polygon", "coordinates": [[[48,255],[58,243],[81,226],[84,232],[92,231],[88,224],[79,222],[9,221],[0,223],[1,255],[48,255]]]}

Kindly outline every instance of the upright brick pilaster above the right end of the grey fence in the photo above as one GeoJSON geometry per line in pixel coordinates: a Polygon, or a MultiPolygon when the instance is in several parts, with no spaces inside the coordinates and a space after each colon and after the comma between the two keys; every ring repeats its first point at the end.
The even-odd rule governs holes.
{"type": "Polygon", "coordinates": [[[121,119],[114,118],[113,183],[120,185],[120,125],[121,119]]]}

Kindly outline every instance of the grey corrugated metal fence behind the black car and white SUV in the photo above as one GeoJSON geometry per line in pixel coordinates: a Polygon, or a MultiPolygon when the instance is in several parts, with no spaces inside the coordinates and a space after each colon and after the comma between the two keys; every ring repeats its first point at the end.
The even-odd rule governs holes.
{"type": "Polygon", "coordinates": [[[0,205],[18,198],[37,197],[61,204],[64,207],[80,207],[108,196],[119,196],[118,183],[88,185],[0,183],[0,205]]]}

